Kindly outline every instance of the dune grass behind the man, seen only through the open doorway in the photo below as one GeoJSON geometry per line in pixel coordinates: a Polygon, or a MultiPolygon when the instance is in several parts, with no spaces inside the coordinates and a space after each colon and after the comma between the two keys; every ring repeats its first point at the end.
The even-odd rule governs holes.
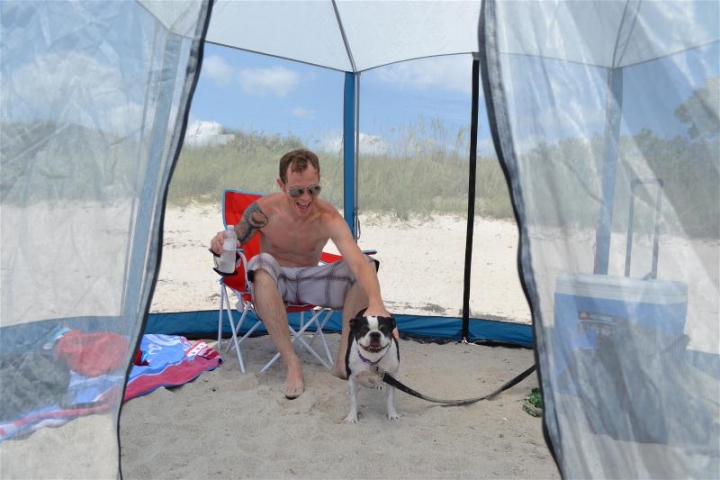
{"type": "MultiPolygon", "coordinates": [[[[434,130],[437,131],[437,130],[434,130]]],[[[171,205],[216,202],[225,188],[269,193],[277,190],[277,164],[288,150],[302,147],[299,139],[264,134],[227,132],[226,145],[185,146],[170,182],[171,205]]],[[[390,213],[400,219],[413,215],[467,213],[468,159],[462,133],[454,149],[437,146],[408,133],[402,147],[384,155],[359,158],[358,204],[363,212],[390,213]],[[414,143],[413,143],[414,142],[414,143]]],[[[341,207],[343,167],[339,152],[318,151],[323,198],[341,207]]],[[[505,177],[495,158],[479,158],[476,213],[511,218],[505,177]]]]}

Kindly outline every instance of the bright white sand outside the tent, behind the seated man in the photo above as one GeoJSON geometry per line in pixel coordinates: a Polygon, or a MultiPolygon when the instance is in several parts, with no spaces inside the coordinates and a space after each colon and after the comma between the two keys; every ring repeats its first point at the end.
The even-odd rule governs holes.
{"type": "MultiPolygon", "coordinates": [[[[361,216],[358,244],[377,251],[383,298],[392,313],[460,315],[465,229],[464,219],[447,215],[408,221],[361,216]]],[[[166,210],[151,312],[218,307],[218,277],[207,248],[219,230],[219,205],[166,210]]],[[[517,273],[516,225],[476,220],[474,232],[471,312],[529,324],[530,309],[517,273]]]]}

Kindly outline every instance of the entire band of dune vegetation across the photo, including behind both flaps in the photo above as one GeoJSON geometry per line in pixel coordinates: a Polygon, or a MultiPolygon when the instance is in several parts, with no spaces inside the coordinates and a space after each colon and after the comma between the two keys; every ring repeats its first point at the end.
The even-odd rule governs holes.
{"type": "MultiPolygon", "coordinates": [[[[688,114],[697,108],[689,102],[679,112],[688,118],[704,118],[688,114]]],[[[628,230],[633,181],[659,178],[663,181],[661,233],[720,237],[720,134],[708,125],[714,124],[696,122],[688,125],[687,135],[673,138],[659,138],[643,130],[619,139],[612,186],[615,232],[628,230]]],[[[303,146],[292,136],[225,133],[230,140],[224,145],[183,147],[170,182],[170,205],[217,204],[220,192],[226,188],[277,191],[279,158],[303,146]]],[[[467,129],[452,132],[440,120],[420,119],[416,125],[381,132],[371,140],[381,147],[377,152],[383,153],[361,149],[361,214],[391,215],[403,220],[435,214],[466,216],[467,129]]],[[[0,122],[0,154],[4,159],[0,198],[3,203],[54,199],[112,202],[133,198],[144,188],[138,172],[148,168],[149,157],[142,154],[145,148],[135,139],[112,138],[77,125],[0,122]]],[[[515,177],[518,184],[514,188],[520,187],[517,191],[522,192],[530,227],[598,226],[607,149],[605,139],[598,134],[518,150],[515,168],[520,175],[515,177]]],[[[342,209],[341,152],[317,153],[322,165],[322,196],[342,209]]],[[[657,188],[643,185],[636,193],[632,227],[635,233],[651,233],[657,188]]],[[[496,158],[477,160],[475,213],[485,218],[513,217],[505,175],[496,158]]]]}

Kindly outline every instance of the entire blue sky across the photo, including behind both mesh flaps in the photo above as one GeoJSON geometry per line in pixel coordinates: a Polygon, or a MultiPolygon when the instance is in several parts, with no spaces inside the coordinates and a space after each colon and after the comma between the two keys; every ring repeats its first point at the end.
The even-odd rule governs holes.
{"type": "MultiPolygon", "coordinates": [[[[21,42],[23,33],[21,25],[9,31],[1,40],[4,48],[21,42]]],[[[122,33],[122,42],[126,35],[122,33]]],[[[20,54],[2,62],[0,104],[6,108],[0,109],[0,118],[56,118],[61,113],[63,121],[118,136],[134,132],[147,92],[141,83],[119,83],[124,78],[118,72],[132,73],[132,59],[140,55],[135,51],[140,44],[127,46],[122,55],[96,55],[94,44],[79,49],[73,42],[60,42],[48,51],[16,49],[20,54]],[[85,74],[77,75],[78,71],[85,74]],[[68,95],[76,98],[68,102],[68,95]],[[82,108],[86,99],[96,102],[92,108],[82,108]]],[[[720,63],[712,61],[717,58],[720,45],[715,42],[626,68],[622,133],[647,128],[661,137],[685,134],[688,126],[678,122],[673,112],[693,87],[720,76],[720,63]]],[[[504,88],[514,102],[513,134],[521,148],[538,140],[602,133],[605,70],[530,57],[508,63],[504,88]],[[552,94],[544,90],[546,85],[553,86],[552,94]]],[[[458,55],[364,72],[361,152],[401,148],[412,135],[446,148],[452,148],[458,133],[467,140],[471,66],[470,55],[458,55]]],[[[207,44],[188,132],[202,137],[226,128],[295,135],[310,148],[336,151],[342,134],[343,81],[342,72],[207,44]]],[[[484,102],[480,107],[479,151],[491,155],[484,102]]]]}

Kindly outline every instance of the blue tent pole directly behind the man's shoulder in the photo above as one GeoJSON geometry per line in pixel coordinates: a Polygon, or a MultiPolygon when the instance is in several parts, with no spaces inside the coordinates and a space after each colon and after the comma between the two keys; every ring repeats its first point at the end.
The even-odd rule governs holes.
{"type": "Polygon", "coordinates": [[[345,72],[345,94],[343,108],[343,182],[345,221],[350,233],[357,240],[357,74],[345,72]]]}

